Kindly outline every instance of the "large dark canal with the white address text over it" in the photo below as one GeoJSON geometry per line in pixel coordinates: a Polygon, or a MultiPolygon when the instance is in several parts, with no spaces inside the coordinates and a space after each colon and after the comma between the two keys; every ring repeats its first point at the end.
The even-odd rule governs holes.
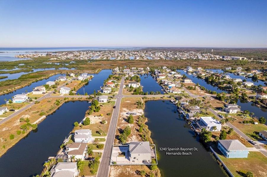
{"type": "MultiPolygon", "coordinates": [[[[151,130],[151,138],[157,150],[159,148],[197,148],[192,155],[165,155],[166,151],[157,151],[158,167],[163,177],[174,176],[227,176],[213,155],[208,152],[195,137],[189,125],[169,101],[147,101],[144,114],[151,130]]],[[[177,152],[177,151],[172,151],[177,152]]]]}

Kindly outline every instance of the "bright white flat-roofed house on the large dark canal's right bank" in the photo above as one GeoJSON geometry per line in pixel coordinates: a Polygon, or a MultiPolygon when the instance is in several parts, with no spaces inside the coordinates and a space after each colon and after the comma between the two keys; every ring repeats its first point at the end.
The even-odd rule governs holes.
{"type": "Polygon", "coordinates": [[[212,117],[200,117],[200,121],[197,122],[197,126],[202,130],[205,128],[207,131],[220,131],[221,123],[213,119],[212,117]]]}

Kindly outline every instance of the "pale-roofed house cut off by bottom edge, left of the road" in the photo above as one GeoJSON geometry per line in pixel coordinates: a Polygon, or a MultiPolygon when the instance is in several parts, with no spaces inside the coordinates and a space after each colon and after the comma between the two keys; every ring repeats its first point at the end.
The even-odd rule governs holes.
{"type": "Polygon", "coordinates": [[[79,175],[77,162],[59,162],[51,168],[51,177],[75,177],[79,175]]]}

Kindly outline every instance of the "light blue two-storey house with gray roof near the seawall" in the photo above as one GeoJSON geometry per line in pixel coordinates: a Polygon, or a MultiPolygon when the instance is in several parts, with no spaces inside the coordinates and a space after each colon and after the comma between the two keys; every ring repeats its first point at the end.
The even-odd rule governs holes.
{"type": "Polygon", "coordinates": [[[247,158],[248,149],[239,140],[219,140],[218,149],[226,158],[247,158]]]}

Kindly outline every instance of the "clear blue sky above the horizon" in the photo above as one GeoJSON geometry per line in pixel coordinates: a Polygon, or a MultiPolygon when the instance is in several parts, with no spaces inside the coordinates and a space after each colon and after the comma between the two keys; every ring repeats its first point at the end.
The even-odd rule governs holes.
{"type": "Polygon", "coordinates": [[[1,47],[267,47],[267,1],[0,1],[1,47]]]}

